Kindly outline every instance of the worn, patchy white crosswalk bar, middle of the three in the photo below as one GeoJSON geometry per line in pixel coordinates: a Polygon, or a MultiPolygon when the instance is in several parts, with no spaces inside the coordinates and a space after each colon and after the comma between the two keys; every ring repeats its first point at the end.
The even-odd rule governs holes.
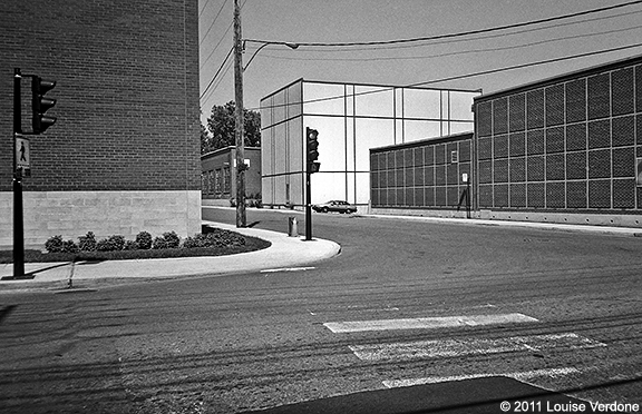
{"type": "Polygon", "coordinates": [[[582,349],[606,346],[573,333],[486,339],[441,339],[408,343],[350,345],[362,361],[400,361],[444,358],[466,355],[488,355],[512,352],[549,351],[555,348],[582,349]]]}

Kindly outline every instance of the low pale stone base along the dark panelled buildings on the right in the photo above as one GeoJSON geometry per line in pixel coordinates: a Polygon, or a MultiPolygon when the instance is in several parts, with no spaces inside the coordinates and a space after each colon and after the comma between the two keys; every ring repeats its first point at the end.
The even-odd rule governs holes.
{"type": "MultiPolygon", "coordinates": [[[[410,208],[371,208],[371,214],[424,216],[424,217],[458,217],[466,218],[466,211],[457,209],[410,209],[410,208]]],[[[590,226],[612,226],[642,228],[641,215],[588,214],[588,213],[544,213],[544,211],[470,211],[471,218],[486,220],[513,220],[533,223],[556,223],[590,226]]]]}

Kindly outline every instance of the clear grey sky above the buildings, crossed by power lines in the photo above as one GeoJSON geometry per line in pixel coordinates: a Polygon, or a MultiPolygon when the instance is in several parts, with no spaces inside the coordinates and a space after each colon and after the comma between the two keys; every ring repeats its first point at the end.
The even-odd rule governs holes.
{"type": "MultiPolygon", "coordinates": [[[[493,29],[629,3],[631,0],[239,0],[244,107],[292,81],[436,88],[484,93],[642,55],[642,46],[523,69],[464,77],[510,66],[642,43],[642,1],[609,11],[441,40],[379,46],[300,46],[264,42],[386,42],[493,29]],[[437,82],[435,82],[437,81],[437,82]]],[[[234,0],[200,0],[201,110],[234,100],[230,56],[234,0]],[[218,72],[217,76],[215,76],[218,72]]]]}

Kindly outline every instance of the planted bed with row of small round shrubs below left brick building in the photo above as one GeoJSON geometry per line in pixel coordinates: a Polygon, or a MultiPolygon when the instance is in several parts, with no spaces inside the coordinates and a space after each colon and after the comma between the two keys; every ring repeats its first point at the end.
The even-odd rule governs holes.
{"type": "MultiPolygon", "coordinates": [[[[142,231],[136,240],[126,240],[123,236],[111,236],[96,241],[88,233],[80,236],[79,243],[64,241],[60,236],[47,240],[47,253],[25,250],[26,263],[79,262],[79,260],[125,260],[169,257],[223,256],[237,253],[261,250],[271,243],[235,231],[203,226],[202,233],[181,240],[175,233],[165,233],[152,239],[142,231]]],[[[0,263],[13,263],[12,250],[0,250],[0,263]]]]}

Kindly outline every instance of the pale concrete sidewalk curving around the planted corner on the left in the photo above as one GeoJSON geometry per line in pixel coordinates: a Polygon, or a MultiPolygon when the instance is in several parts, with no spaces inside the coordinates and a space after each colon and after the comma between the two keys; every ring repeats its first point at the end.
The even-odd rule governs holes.
{"type": "MultiPolygon", "coordinates": [[[[139,260],[107,260],[99,263],[77,263],[72,280],[166,278],[196,275],[223,275],[251,273],[275,268],[302,266],[330,258],[339,254],[341,247],[329,240],[315,238],[304,241],[302,236],[288,237],[286,234],[236,228],[233,225],[203,221],[205,225],[237,231],[265,239],[272,245],[263,250],[215,257],[181,257],[139,260]]],[[[16,292],[16,288],[62,288],[71,274],[70,263],[27,263],[25,273],[33,274],[28,280],[0,280],[1,292],[16,292]]],[[[12,276],[13,265],[0,265],[0,277],[12,276]]]]}

